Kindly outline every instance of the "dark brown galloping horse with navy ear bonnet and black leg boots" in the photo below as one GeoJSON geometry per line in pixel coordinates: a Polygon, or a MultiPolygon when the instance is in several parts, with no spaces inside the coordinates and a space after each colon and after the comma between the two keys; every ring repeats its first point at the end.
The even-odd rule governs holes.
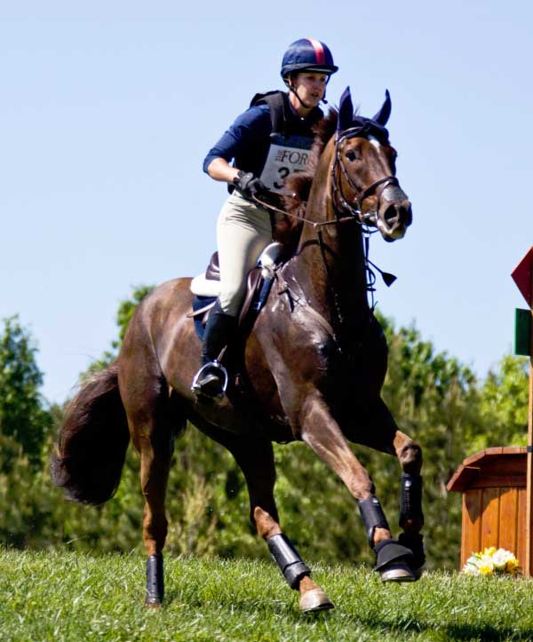
{"type": "Polygon", "coordinates": [[[323,119],[311,167],[293,178],[282,210],[298,227],[296,251],[276,268],[267,303],[241,346],[246,385],[230,385],[224,400],[211,403],[191,392],[201,343],[189,314],[191,279],[180,278],[142,300],[116,361],[82,384],[68,406],[51,471],[70,499],[107,501],[130,438],[139,451],[148,606],[163,601],[165,492],[175,440],[187,422],[235,457],[251,523],[299,592],[302,611],[333,604],[280,526],[273,441],[304,441],[346,484],[383,582],[415,581],[422,572],[422,450],[381,399],[386,339],[369,302],[370,232],[393,242],[412,220],[386,130],[390,112],[386,91],[377,115],[354,113],[346,88],[338,111],[323,119]],[[398,458],[397,540],[349,441],[398,458]]]}

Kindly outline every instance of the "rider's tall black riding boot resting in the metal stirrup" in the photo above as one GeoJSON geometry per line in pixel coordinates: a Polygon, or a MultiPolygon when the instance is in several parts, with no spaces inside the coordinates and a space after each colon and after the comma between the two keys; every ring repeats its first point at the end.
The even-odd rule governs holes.
{"type": "Polygon", "coordinates": [[[191,387],[196,394],[203,394],[206,397],[224,396],[227,371],[218,359],[222,349],[234,337],[236,328],[236,317],[222,312],[217,300],[203,335],[202,368],[196,373],[191,387]]]}

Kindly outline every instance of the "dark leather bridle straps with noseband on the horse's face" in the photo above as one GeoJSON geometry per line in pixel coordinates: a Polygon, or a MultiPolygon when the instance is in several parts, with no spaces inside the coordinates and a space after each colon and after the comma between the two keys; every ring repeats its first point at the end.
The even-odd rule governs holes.
{"type": "MultiPolygon", "coordinates": [[[[379,178],[377,181],[375,181],[371,185],[363,187],[362,189],[357,187],[354,184],[354,181],[348,175],[346,166],[344,162],[342,162],[342,158],[340,157],[340,152],[341,152],[340,144],[344,142],[346,139],[353,139],[356,136],[361,136],[362,138],[365,138],[364,136],[365,133],[366,133],[365,127],[352,127],[349,130],[342,131],[340,136],[338,136],[338,139],[335,141],[335,158],[331,164],[331,185],[332,185],[331,196],[332,196],[332,199],[334,201],[337,201],[338,204],[340,205],[340,208],[339,208],[340,210],[348,211],[354,218],[356,218],[356,220],[358,220],[362,224],[370,223],[370,224],[376,225],[378,220],[378,210],[379,210],[379,203],[381,200],[381,194],[383,194],[387,186],[389,185],[399,186],[400,184],[398,182],[398,178],[396,178],[395,176],[384,176],[383,178],[379,178]],[[342,175],[346,179],[346,183],[354,191],[355,196],[352,202],[348,202],[348,199],[346,198],[346,194],[344,193],[344,190],[343,190],[342,183],[338,180],[339,173],[337,171],[337,168],[340,168],[342,175]],[[379,190],[379,193],[377,193],[376,190],[378,189],[379,186],[382,186],[382,187],[379,190]],[[376,210],[366,212],[365,214],[363,214],[362,202],[364,201],[365,198],[375,193],[378,195],[378,205],[376,207],[376,210]]],[[[335,217],[338,219],[338,208],[335,207],[334,210],[335,210],[335,217]]]]}

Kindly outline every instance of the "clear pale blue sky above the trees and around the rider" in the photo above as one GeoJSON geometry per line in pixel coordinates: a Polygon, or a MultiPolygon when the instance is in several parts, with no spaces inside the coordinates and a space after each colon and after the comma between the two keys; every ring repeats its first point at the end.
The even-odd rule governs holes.
{"type": "Polygon", "coordinates": [[[533,4],[404,0],[24,2],[0,8],[0,318],[39,347],[62,401],[116,336],[132,286],[194,275],[225,189],[203,156],[287,45],[329,44],[363,115],[388,88],[406,237],[379,307],[485,376],[512,349],[510,278],[533,245],[533,4]]]}

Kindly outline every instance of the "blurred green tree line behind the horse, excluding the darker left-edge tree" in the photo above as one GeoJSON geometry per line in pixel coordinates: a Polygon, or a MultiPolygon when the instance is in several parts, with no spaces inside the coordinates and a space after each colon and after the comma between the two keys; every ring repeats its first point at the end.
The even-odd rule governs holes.
{"type": "MultiPolygon", "coordinates": [[[[136,288],[119,305],[118,338],[98,367],[115,358],[133,311],[151,289],[136,288]]],[[[496,373],[479,384],[470,369],[447,353],[437,353],[414,326],[395,329],[393,321],[380,321],[389,345],[384,399],[400,429],[424,450],[427,565],[457,568],[461,498],[448,494],[446,483],[465,456],[486,445],[508,445],[514,434],[522,433],[527,374],[521,361],[507,357],[496,373]]],[[[369,448],[354,446],[354,451],[375,481],[396,535],[400,466],[394,457],[369,448]]],[[[274,445],[274,455],[282,526],[305,559],[371,563],[373,556],[356,504],[344,484],[303,443],[274,445]]],[[[10,541],[79,550],[143,550],[143,500],[134,448],[128,451],[115,498],[96,508],[65,502],[60,491],[52,488],[45,465],[42,473],[28,479],[25,461],[18,464],[18,474],[26,480],[26,503],[31,506],[21,503],[11,511],[9,522],[18,519],[19,527],[16,539],[10,535],[10,541]],[[25,530],[28,519],[35,525],[30,532],[25,530]]],[[[16,505],[7,495],[5,502],[16,505]]],[[[1,504],[2,479],[0,513],[1,504]]],[[[233,457],[190,426],[176,443],[166,505],[169,535],[165,550],[169,554],[268,554],[249,522],[248,494],[233,457]]],[[[5,524],[3,529],[0,518],[0,534],[8,527],[7,521],[5,524]]]]}

